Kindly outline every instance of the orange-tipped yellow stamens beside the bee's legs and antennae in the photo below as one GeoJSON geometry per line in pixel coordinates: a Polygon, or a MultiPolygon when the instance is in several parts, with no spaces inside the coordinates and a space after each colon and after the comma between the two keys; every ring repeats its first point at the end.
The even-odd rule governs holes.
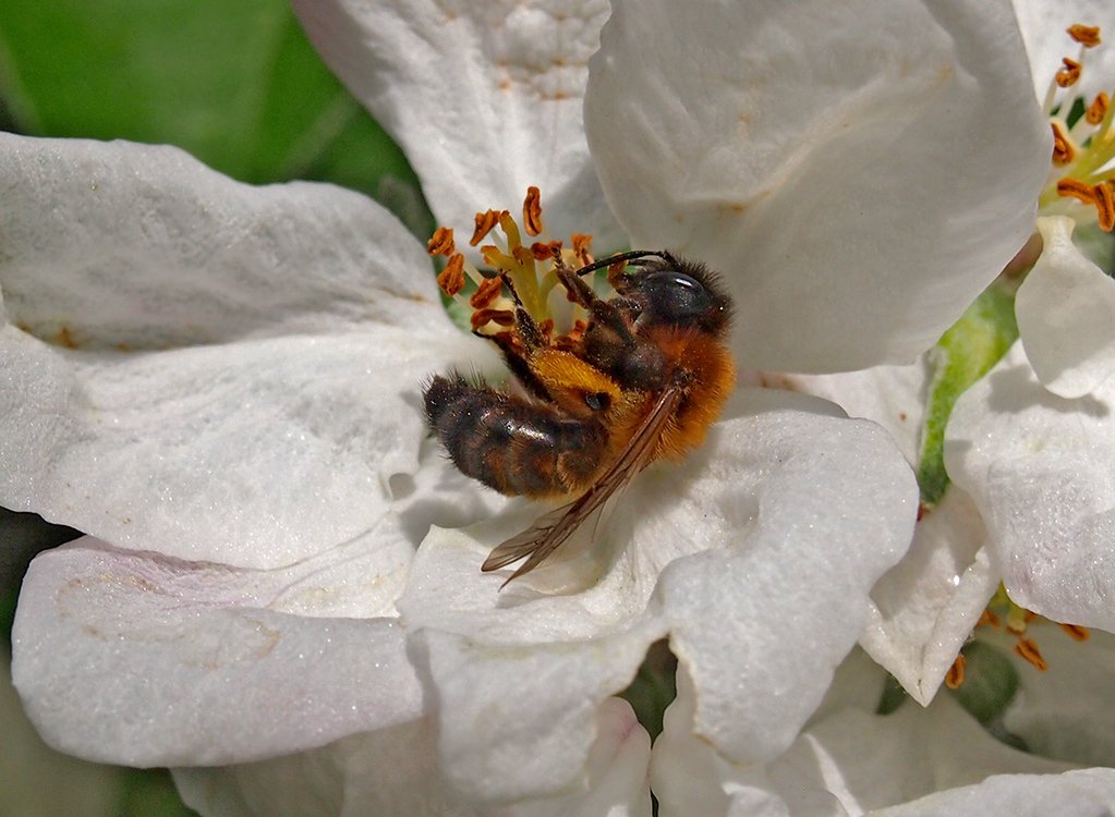
{"type": "Polygon", "coordinates": [[[592,263],[592,236],[574,233],[568,244],[546,236],[537,187],[531,186],[523,201],[522,227],[508,211],[487,210],[476,214],[468,243],[478,247],[483,269],[456,250],[449,227],[438,227],[426,250],[448,259],[437,278],[438,288],[448,298],[467,303],[474,333],[508,333],[515,325],[517,307],[530,313],[551,344],[560,347],[571,333],[583,331],[584,310],[564,298],[556,270],[592,263]],[[524,234],[536,241],[524,243],[524,234]],[[555,288],[561,296],[551,299],[555,288]]]}

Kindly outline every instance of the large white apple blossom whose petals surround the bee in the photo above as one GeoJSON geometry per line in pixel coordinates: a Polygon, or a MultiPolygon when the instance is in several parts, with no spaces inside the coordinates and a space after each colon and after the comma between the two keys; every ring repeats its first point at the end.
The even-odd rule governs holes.
{"type": "MultiPolygon", "coordinates": [[[[748,368],[908,360],[1032,225],[1049,135],[1004,3],[618,1],[602,33],[603,3],[297,6],[444,223],[539,184],[558,235],[708,261],[748,368]]],[[[17,684],[74,753],[232,765],[178,771],[205,813],[273,813],[277,779],[320,784],[292,811],[432,808],[377,794],[397,739],[464,814],[646,814],[612,696],[648,646],[726,762],[777,757],[910,542],[882,429],[741,389],[500,593],[477,567],[537,508],[424,446],[423,377],[491,354],[397,222],[159,148],[3,137],[0,178],[0,500],[88,534],[32,565],[17,684]]]]}

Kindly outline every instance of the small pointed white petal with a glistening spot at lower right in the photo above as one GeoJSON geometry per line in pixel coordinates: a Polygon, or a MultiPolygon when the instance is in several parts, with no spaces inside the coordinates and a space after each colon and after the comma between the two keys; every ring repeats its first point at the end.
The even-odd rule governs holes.
{"type": "Polygon", "coordinates": [[[860,644],[928,706],[999,585],[983,523],[956,486],[918,521],[905,557],[871,591],[860,644]]]}

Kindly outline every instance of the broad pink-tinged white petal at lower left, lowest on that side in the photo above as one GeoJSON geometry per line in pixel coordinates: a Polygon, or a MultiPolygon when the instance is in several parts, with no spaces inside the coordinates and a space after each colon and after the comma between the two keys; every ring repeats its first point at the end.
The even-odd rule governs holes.
{"type": "Polygon", "coordinates": [[[28,571],[16,684],[52,746],[130,766],[242,762],[413,719],[403,628],[371,617],[409,548],[390,518],[272,573],[79,539],[28,571]]]}

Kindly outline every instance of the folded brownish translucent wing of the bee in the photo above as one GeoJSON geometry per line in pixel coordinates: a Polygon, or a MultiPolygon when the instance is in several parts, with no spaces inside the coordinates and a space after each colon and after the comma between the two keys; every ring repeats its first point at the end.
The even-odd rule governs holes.
{"type": "MultiPolygon", "coordinates": [[[[481,565],[482,571],[496,571],[521,558],[526,561],[511,574],[507,582],[530,573],[568,539],[581,523],[603,507],[615,492],[643,469],[655,453],[655,446],[673,416],[681,393],[667,389],[639,425],[627,448],[592,486],[569,505],[540,516],[531,527],[497,545],[481,565]]],[[[503,586],[507,585],[503,583],[503,586]]]]}

